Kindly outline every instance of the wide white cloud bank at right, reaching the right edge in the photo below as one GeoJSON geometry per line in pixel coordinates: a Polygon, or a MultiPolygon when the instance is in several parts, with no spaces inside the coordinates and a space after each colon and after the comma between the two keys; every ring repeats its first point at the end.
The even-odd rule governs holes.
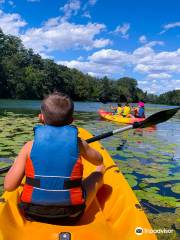
{"type": "MultiPolygon", "coordinates": [[[[172,74],[180,72],[180,49],[174,52],[160,53],[147,46],[137,48],[132,53],[102,49],[90,55],[87,60],[85,62],[86,69],[88,69],[88,65],[90,67],[93,65],[98,72],[100,65],[101,69],[102,66],[111,69],[111,75],[118,73],[120,69],[125,70],[126,67],[132,67],[138,73],[147,74],[147,77],[151,79],[169,79],[172,74]]],[[[76,60],[69,62],[73,67],[76,64],[78,69],[86,72],[83,63],[76,60]]]]}

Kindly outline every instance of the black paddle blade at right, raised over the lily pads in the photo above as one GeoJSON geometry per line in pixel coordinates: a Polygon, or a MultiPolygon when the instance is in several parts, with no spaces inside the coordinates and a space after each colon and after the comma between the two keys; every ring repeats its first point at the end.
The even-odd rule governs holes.
{"type": "Polygon", "coordinates": [[[156,124],[165,122],[165,121],[169,120],[171,117],[173,117],[179,109],[180,109],[180,107],[177,107],[177,108],[157,112],[157,113],[149,116],[142,122],[135,122],[133,124],[133,128],[146,128],[146,127],[149,127],[152,125],[156,125],[156,124]]]}

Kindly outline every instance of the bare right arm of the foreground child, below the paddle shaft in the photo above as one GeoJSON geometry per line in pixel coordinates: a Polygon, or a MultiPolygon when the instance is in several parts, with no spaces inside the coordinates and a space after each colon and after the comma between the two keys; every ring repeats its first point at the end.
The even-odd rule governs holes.
{"type": "Polygon", "coordinates": [[[85,140],[79,139],[79,146],[80,146],[80,154],[87,161],[91,162],[96,166],[103,163],[102,155],[98,151],[90,147],[85,140]]]}

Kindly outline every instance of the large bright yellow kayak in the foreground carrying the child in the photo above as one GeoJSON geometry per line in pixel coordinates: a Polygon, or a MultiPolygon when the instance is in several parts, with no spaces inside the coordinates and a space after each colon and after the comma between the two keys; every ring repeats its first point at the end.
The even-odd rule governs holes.
{"type": "MultiPolygon", "coordinates": [[[[84,129],[79,129],[79,136],[83,139],[92,137],[84,129]]],[[[19,187],[13,192],[5,192],[0,198],[0,240],[59,240],[62,232],[69,232],[71,240],[157,239],[154,234],[147,233],[147,230],[152,231],[150,223],[108,152],[99,142],[91,143],[91,146],[103,155],[106,171],[103,187],[81,220],[75,226],[25,220],[17,208],[22,191],[22,187],[19,187]],[[135,233],[137,227],[143,230],[138,229],[135,233]]],[[[86,160],[83,163],[86,177],[95,167],[86,160]]]]}

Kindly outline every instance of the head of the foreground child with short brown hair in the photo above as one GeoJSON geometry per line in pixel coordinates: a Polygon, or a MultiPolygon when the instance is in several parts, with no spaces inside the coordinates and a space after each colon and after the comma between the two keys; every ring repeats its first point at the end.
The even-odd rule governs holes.
{"type": "Polygon", "coordinates": [[[72,121],[74,104],[68,95],[62,92],[54,92],[44,98],[41,111],[46,124],[53,126],[67,125],[72,121]]]}

